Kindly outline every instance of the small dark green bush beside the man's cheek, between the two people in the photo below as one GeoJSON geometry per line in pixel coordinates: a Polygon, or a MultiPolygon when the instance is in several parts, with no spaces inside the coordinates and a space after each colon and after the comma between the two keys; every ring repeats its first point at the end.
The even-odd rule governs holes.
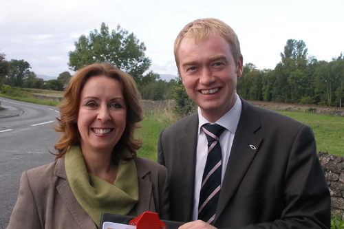
{"type": "Polygon", "coordinates": [[[173,99],[175,101],[175,112],[182,117],[189,116],[197,111],[197,105],[186,94],[182,80],[178,78],[177,83],[172,90],[173,99]]]}

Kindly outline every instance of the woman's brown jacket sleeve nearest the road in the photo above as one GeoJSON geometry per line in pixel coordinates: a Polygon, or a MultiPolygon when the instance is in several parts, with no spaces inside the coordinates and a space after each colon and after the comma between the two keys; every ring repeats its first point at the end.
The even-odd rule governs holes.
{"type": "Polygon", "coordinates": [[[21,175],[17,203],[8,224],[8,229],[12,228],[42,228],[26,171],[21,175]]]}

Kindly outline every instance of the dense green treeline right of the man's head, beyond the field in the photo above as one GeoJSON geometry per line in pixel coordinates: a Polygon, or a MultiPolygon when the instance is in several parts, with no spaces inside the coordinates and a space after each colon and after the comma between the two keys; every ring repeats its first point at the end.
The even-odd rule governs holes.
{"type": "Polygon", "coordinates": [[[342,107],[344,98],[344,56],[332,61],[308,57],[305,42],[288,40],[275,69],[244,65],[237,93],[246,100],[288,102],[342,107]]]}

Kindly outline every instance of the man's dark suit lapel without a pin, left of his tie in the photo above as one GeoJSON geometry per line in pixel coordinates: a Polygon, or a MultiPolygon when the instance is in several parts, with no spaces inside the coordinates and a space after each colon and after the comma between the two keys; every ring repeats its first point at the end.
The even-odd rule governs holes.
{"type": "Polygon", "coordinates": [[[180,198],[184,203],[180,209],[185,221],[191,221],[195,190],[195,163],[197,149],[198,116],[195,113],[184,127],[185,135],[178,139],[178,166],[180,169],[180,198]]]}

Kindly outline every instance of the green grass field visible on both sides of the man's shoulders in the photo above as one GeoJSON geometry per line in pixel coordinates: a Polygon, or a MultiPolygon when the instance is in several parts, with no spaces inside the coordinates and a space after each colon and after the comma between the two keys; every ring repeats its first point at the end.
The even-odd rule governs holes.
{"type": "MultiPolygon", "coordinates": [[[[323,116],[312,113],[281,112],[312,127],[316,138],[317,151],[344,156],[344,117],[323,116]]],[[[163,114],[149,113],[142,120],[142,128],[136,131],[137,138],[142,139],[143,146],[138,151],[140,157],[157,160],[158,136],[171,121],[163,114]]]]}

